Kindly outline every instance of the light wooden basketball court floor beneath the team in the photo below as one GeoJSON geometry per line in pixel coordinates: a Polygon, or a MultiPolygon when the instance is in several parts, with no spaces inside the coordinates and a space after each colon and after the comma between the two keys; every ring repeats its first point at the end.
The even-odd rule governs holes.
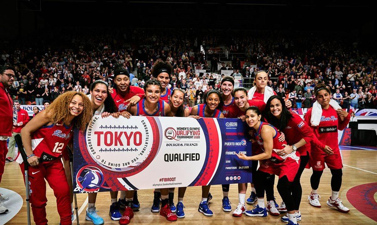
{"type": "MultiPolygon", "coordinates": [[[[328,197],[331,195],[330,179],[331,173],[329,169],[326,169],[323,173],[319,194],[322,196],[320,203],[322,208],[311,207],[307,201],[308,194],[310,194],[310,175],[311,170],[305,170],[301,178],[301,184],[303,188],[303,196],[300,206],[302,214],[302,220],[300,224],[377,224],[374,220],[365,216],[363,213],[354,208],[349,199],[346,198],[346,193],[349,189],[360,184],[366,184],[371,182],[377,182],[377,151],[365,151],[365,150],[343,150],[343,184],[340,190],[340,198],[343,200],[343,204],[348,207],[350,213],[340,213],[333,208],[326,205],[328,197]],[[355,168],[352,168],[355,167],[355,168]],[[356,169],[358,168],[358,169],[356,169]],[[366,170],[366,171],[364,171],[366,170]]],[[[3,175],[1,187],[14,190],[19,193],[25,199],[25,186],[23,184],[22,174],[20,167],[17,163],[6,163],[5,173],[3,175]]],[[[250,186],[249,186],[250,189],[250,186]]],[[[178,190],[175,192],[175,203],[177,199],[178,190]]],[[[221,209],[222,189],[221,185],[211,187],[211,193],[213,199],[210,204],[210,208],[214,213],[214,216],[207,217],[198,212],[198,204],[201,199],[201,187],[189,187],[187,189],[184,198],[184,211],[186,217],[178,219],[175,224],[284,224],[280,222],[280,217],[283,216],[268,216],[268,217],[248,217],[242,216],[235,218],[231,216],[231,212],[225,213],[221,209]]],[[[247,196],[250,192],[247,192],[247,196]]],[[[56,210],[56,201],[52,193],[52,190],[48,187],[48,199],[47,203],[47,218],[49,224],[58,224],[59,217],[56,210]]],[[[280,203],[281,198],[275,187],[276,200],[280,203]]],[[[93,224],[90,221],[85,220],[85,209],[83,206],[84,201],[87,198],[86,194],[80,194],[78,196],[78,207],[82,207],[84,210],[81,212],[79,219],[80,224],[93,224]]],[[[150,207],[152,205],[152,190],[139,191],[139,201],[141,203],[141,209],[135,213],[135,217],[131,220],[131,224],[157,224],[157,223],[172,223],[167,221],[164,217],[158,213],[151,213],[150,207]]],[[[238,205],[238,191],[237,185],[230,186],[229,198],[231,201],[232,211],[238,205]]],[[[360,196],[360,198],[363,198],[360,196]]],[[[374,199],[377,199],[377,194],[374,194],[374,199]]],[[[118,224],[117,221],[112,221],[109,216],[110,194],[107,192],[101,192],[97,196],[96,207],[99,211],[98,214],[103,217],[105,224],[118,224]]],[[[247,210],[252,208],[251,205],[247,205],[247,210]]],[[[377,211],[377,210],[376,210],[377,211]]],[[[376,213],[375,211],[375,213],[376,213]]],[[[1,216],[1,215],[0,215],[1,216]]],[[[1,217],[0,217],[1,220],[1,217]]],[[[26,224],[26,206],[25,203],[20,212],[13,217],[8,223],[9,225],[25,225],[26,224]]],[[[75,224],[75,223],[74,223],[75,224]]]]}

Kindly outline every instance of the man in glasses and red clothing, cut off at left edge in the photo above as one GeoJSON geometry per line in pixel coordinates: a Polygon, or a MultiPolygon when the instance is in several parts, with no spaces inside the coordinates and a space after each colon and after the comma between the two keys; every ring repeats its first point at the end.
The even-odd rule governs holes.
{"type": "MultiPolygon", "coordinates": [[[[11,66],[0,67],[0,182],[4,173],[5,157],[8,153],[6,147],[6,140],[12,136],[12,121],[13,121],[13,101],[9,95],[9,87],[13,84],[16,70],[11,66]]],[[[0,193],[0,202],[6,201],[9,198],[0,193]]],[[[0,204],[0,213],[8,211],[5,206],[0,204]]]]}

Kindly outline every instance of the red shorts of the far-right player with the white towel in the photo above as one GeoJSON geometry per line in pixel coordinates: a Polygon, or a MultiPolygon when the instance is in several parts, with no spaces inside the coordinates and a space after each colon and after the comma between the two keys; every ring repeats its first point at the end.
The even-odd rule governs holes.
{"type": "Polygon", "coordinates": [[[339,149],[334,150],[334,154],[327,155],[323,151],[312,151],[310,154],[310,166],[313,170],[322,171],[325,169],[325,163],[330,169],[342,169],[342,157],[339,149]]]}

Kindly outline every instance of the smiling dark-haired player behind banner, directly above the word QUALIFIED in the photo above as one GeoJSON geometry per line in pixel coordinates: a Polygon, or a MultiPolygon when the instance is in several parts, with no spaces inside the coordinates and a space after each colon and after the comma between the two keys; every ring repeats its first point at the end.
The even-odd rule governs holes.
{"type": "MultiPolygon", "coordinates": [[[[205,96],[205,103],[194,106],[191,109],[190,115],[200,117],[212,117],[212,118],[225,118],[220,109],[224,105],[221,94],[216,90],[208,91],[205,96]]],[[[208,200],[210,200],[210,188],[211,185],[202,186],[202,200],[199,204],[198,211],[205,216],[213,216],[213,212],[208,206],[208,200]]]]}

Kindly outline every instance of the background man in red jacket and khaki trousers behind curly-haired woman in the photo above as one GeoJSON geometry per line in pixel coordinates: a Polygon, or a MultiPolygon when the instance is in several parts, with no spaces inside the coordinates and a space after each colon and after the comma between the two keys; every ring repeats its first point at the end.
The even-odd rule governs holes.
{"type": "Polygon", "coordinates": [[[6,161],[9,161],[9,162],[13,161],[13,157],[14,157],[14,149],[15,149],[15,144],[16,144],[14,136],[17,134],[21,134],[21,129],[30,120],[28,111],[21,109],[20,102],[18,102],[17,100],[14,101],[14,108],[17,111],[17,122],[13,121],[12,137],[9,137],[8,154],[6,154],[6,159],[5,159],[6,161]]]}

